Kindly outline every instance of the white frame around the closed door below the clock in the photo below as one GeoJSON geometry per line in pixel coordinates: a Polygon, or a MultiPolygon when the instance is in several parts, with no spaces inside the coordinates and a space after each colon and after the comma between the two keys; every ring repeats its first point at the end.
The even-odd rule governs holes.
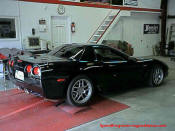
{"type": "Polygon", "coordinates": [[[55,48],[54,47],[54,44],[53,44],[53,29],[52,29],[52,19],[53,17],[57,17],[57,18],[61,18],[61,19],[66,19],[66,30],[68,32],[68,43],[67,44],[72,44],[72,33],[71,33],[71,17],[70,16],[51,16],[50,17],[50,27],[51,27],[51,41],[52,41],[52,48],[55,48]]]}

